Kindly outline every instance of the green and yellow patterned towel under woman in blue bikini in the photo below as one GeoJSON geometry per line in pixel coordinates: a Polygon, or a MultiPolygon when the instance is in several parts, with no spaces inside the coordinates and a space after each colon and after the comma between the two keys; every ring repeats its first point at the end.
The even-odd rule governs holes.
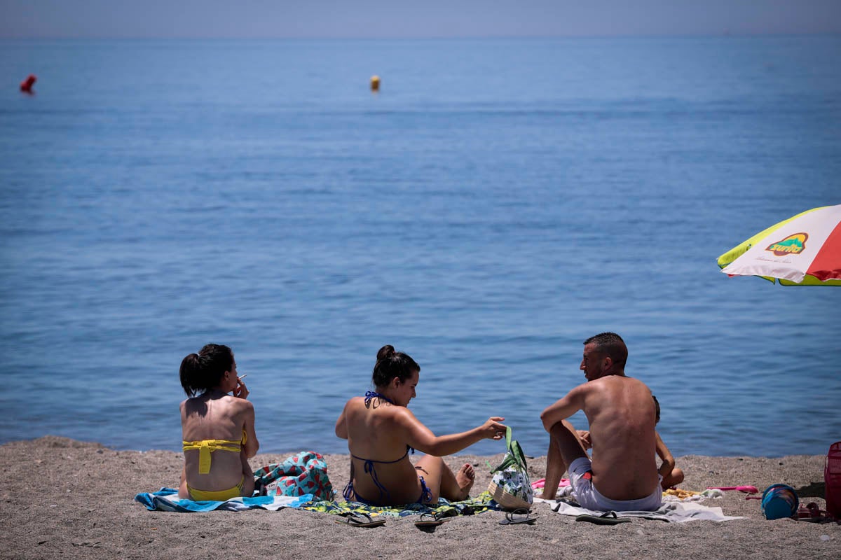
{"type": "Polygon", "coordinates": [[[437,505],[406,504],[395,506],[378,506],[362,504],[362,502],[348,501],[313,501],[309,504],[299,506],[301,510],[320,511],[322,513],[344,516],[348,513],[367,513],[369,516],[406,517],[421,516],[423,514],[437,515],[438,517],[472,516],[477,513],[484,513],[490,510],[502,510],[490,496],[489,492],[483,492],[475,498],[468,498],[458,502],[451,502],[443,498],[438,499],[437,505]]]}

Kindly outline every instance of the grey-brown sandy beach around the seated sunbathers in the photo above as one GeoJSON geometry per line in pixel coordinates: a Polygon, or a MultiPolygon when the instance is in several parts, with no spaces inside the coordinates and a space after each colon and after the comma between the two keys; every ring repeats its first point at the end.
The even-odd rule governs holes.
{"type": "MultiPolygon", "coordinates": [[[[258,467],[288,454],[258,454],[258,467]]],[[[331,481],[341,491],[346,455],[326,455],[331,481]]],[[[449,458],[456,467],[477,466],[474,488],[489,482],[485,459],[449,458]]],[[[801,502],[823,509],[822,456],[782,458],[678,458],[684,489],[706,486],[790,484],[801,502]]],[[[452,519],[433,532],[413,517],[389,519],[373,529],[342,526],[336,516],[302,510],[162,513],[134,501],[138,492],[177,485],[182,455],[169,451],[114,451],[98,443],[41,437],[0,446],[3,469],[0,557],[3,558],[838,558],[841,526],[782,519],[767,521],[759,500],[738,492],[705,500],[725,515],[745,519],[717,523],[664,523],[635,519],[618,526],[576,522],[536,504],[533,526],[500,526],[499,511],[452,519]]],[[[545,458],[529,469],[543,475],[545,458]]],[[[477,492],[474,491],[473,494],[477,492]]]]}

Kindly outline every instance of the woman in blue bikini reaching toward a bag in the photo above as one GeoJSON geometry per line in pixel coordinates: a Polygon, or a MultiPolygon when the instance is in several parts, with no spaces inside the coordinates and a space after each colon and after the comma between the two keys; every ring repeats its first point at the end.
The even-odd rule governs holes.
{"type": "Polygon", "coordinates": [[[421,366],[407,354],[383,346],[373,368],[375,391],[348,400],[336,421],[336,436],[347,440],[351,480],[346,500],[371,505],[436,503],[438,497],[465,500],[473,486],[473,467],[453,473],[442,457],[482,439],[505,437],[505,418],[492,416],[468,432],[436,436],[407,408],[415,398],[421,366]],[[426,456],[415,465],[409,452],[426,456]]]}

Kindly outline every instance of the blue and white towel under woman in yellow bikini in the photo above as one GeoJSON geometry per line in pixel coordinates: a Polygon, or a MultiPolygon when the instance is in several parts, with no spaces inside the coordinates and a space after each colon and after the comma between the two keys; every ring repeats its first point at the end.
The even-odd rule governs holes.
{"type": "Polygon", "coordinates": [[[299,508],[312,502],[312,495],[302,496],[257,496],[254,498],[231,498],[226,501],[194,501],[182,500],[178,497],[178,490],[161,488],[157,492],[143,492],[135,495],[135,501],[152,511],[176,511],[179,513],[193,513],[196,511],[241,511],[241,510],[271,510],[283,508],[299,508]]]}

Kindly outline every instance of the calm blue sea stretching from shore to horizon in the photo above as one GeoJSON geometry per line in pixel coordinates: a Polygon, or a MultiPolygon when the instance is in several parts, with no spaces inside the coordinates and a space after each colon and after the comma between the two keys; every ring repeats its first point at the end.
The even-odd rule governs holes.
{"type": "Polygon", "coordinates": [[[249,374],[262,451],[346,453],[336,416],[390,343],[433,432],[505,416],[541,455],[540,411],[610,330],[676,455],[826,453],[841,290],[716,259],[841,203],[839,55],[841,36],[0,41],[0,442],[176,450],[178,366],[214,342],[249,374]]]}

